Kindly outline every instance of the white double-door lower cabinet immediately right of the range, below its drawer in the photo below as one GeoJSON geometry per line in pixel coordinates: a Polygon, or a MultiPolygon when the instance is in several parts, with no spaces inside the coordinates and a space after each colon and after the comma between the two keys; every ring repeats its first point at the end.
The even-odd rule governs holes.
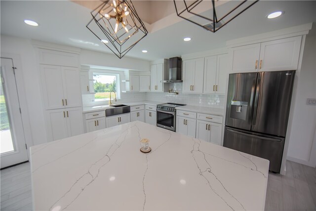
{"type": "Polygon", "coordinates": [[[177,116],[176,132],[195,138],[196,127],[197,127],[196,119],[177,116]]]}

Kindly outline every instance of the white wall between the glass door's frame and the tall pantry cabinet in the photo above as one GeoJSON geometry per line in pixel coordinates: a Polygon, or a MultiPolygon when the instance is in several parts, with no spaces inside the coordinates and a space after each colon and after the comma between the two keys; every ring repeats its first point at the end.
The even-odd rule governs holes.
{"type": "Polygon", "coordinates": [[[30,40],[1,35],[1,55],[6,53],[20,55],[27,102],[27,105],[21,104],[21,107],[28,109],[33,144],[45,143],[47,138],[35,49],[30,40]]]}

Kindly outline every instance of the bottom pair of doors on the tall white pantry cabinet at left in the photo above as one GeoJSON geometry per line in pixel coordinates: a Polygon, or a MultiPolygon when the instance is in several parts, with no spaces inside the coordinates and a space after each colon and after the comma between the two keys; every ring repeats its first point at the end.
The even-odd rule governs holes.
{"type": "Polygon", "coordinates": [[[46,119],[49,141],[83,133],[81,107],[47,110],[46,119]]]}

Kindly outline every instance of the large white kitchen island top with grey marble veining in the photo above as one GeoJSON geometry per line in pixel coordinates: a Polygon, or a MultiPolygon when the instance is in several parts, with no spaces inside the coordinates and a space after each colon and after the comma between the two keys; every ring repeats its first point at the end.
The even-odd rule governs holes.
{"type": "Polygon", "coordinates": [[[139,121],[31,147],[34,210],[264,210],[268,169],[139,121]]]}

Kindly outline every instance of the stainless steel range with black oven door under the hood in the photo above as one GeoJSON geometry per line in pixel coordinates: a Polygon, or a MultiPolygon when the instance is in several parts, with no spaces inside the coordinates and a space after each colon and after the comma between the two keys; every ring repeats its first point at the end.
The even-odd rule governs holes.
{"type": "Polygon", "coordinates": [[[176,131],[176,107],[184,104],[164,103],[157,105],[157,127],[176,131]]]}

